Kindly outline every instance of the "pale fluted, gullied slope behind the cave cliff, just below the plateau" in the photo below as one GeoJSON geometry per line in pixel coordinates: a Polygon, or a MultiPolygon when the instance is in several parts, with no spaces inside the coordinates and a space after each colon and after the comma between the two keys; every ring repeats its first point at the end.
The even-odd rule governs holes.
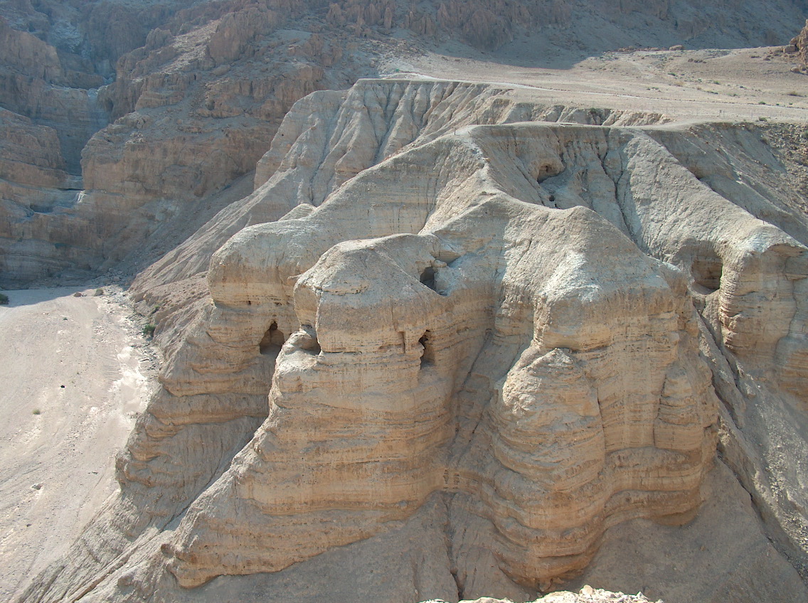
{"type": "Polygon", "coordinates": [[[133,285],[135,294],[140,297],[154,286],[204,272],[213,251],[241,228],[277,220],[295,208],[305,213],[348,179],[415,141],[431,141],[475,123],[666,120],[654,113],[547,106],[507,86],[466,82],[360,80],[347,93],[318,92],[301,99],[284,117],[256,167],[255,192],[145,270],[133,285]],[[357,144],[360,140],[363,144],[357,144]]]}

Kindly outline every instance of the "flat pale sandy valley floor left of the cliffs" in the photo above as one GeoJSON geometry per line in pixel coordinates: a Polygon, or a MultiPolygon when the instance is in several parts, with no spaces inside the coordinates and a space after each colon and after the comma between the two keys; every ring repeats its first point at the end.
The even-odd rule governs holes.
{"type": "Polygon", "coordinates": [[[154,359],[124,293],[94,292],[4,292],[0,601],[64,554],[115,490],[114,453],[149,393],[154,359]]]}

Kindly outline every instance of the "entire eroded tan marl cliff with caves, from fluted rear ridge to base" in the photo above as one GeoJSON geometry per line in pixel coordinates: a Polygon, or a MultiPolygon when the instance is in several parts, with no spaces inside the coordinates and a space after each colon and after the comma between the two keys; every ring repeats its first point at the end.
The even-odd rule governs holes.
{"type": "Polygon", "coordinates": [[[717,432],[801,563],[802,469],[760,436],[804,446],[802,202],[759,130],[661,120],[453,82],[299,101],[255,192],[136,284],[162,389],[23,601],[526,601],[609,525],[688,521],[717,432]],[[525,121],[562,115],[597,125],[525,121]]]}

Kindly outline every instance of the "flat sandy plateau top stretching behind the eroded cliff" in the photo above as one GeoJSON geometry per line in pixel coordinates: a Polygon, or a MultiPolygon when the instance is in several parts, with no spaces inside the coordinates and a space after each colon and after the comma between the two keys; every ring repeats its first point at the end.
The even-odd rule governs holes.
{"type": "Polygon", "coordinates": [[[808,120],[808,76],[793,73],[795,63],[776,47],[610,52],[553,68],[509,63],[519,54],[519,42],[514,46],[490,60],[457,56],[451,48],[391,56],[380,68],[395,77],[515,84],[547,103],[659,112],[679,120],[808,120]]]}

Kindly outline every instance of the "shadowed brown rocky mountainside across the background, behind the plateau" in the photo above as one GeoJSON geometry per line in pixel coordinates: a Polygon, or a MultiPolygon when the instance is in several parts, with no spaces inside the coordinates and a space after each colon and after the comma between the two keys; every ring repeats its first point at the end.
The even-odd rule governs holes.
{"type": "MultiPolygon", "coordinates": [[[[0,107],[52,129],[65,171],[83,181],[44,179],[30,203],[3,197],[0,282],[84,278],[122,261],[124,272],[144,268],[233,200],[219,193],[252,171],[292,103],[377,74],[389,53],[448,39],[493,50],[532,35],[576,53],[659,40],[764,44],[785,39],[799,11],[787,0],[765,19],[737,2],[607,4],[4,0],[0,107]]],[[[28,161],[12,146],[13,161],[28,161]]]]}

